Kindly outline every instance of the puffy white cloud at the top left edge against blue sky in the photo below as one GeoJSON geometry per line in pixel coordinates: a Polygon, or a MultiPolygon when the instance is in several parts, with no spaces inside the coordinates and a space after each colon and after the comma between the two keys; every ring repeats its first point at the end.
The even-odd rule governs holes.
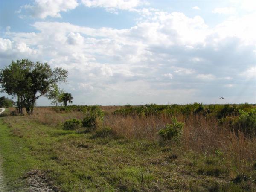
{"type": "MultiPolygon", "coordinates": [[[[22,6],[18,13],[23,10],[31,17],[45,19],[46,17],[61,17],[60,12],[67,12],[78,6],[77,0],[35,0],[34,3],[22,6]]],[[[21,15],[24,17],[24,15],[21,15]]]]}

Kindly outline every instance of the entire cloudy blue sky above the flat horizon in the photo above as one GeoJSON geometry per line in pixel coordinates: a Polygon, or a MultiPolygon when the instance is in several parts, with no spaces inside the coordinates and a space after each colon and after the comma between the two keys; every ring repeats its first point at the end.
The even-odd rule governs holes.
{"type": "Polygon", "coordinates": [[[255,0],[1,0],[0,68],[62,67],[76,105],[255,103],[255,18],[255,0]]]}

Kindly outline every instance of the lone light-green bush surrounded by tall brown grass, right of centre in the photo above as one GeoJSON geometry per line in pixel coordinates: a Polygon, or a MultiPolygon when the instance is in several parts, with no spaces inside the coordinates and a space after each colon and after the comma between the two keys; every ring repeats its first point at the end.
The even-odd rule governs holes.
{"type": "Polygon", "coordinates": [[[180,139],[184,127],[184,123],[178,122],[176,118],[172,118],[172,124],[166,124],[158,134],[167,140],[177,141],[180,139]]]}

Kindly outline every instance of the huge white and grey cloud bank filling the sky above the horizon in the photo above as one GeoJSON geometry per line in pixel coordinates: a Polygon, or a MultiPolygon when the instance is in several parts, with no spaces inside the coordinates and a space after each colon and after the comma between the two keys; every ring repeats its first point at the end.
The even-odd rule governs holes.
{"type": "MultiPolygon", "coordinates": [[[[90,6],[109,7],[108,1],[87,3],[92,2],[98,4],[90,6]]],[[[113,7],[131,9],[125,6],[113,7]]],[[[209,96],[218,97],[216,90],[237,94],[250,82],[243,74],[254,76],[254,18],[228,18],[210,27],[200,16],[154,10],[127,29],[35,22],[37,32],[9,32],[8,38],[0,38],[0,54],[10,61],[24,57],[67,69],[70,90],[78,99],[90,94],[90,104],[188,102],[188,97],[196,102],[206,93],[207,99],[199,101],[211,102],[209,96]]]]}

